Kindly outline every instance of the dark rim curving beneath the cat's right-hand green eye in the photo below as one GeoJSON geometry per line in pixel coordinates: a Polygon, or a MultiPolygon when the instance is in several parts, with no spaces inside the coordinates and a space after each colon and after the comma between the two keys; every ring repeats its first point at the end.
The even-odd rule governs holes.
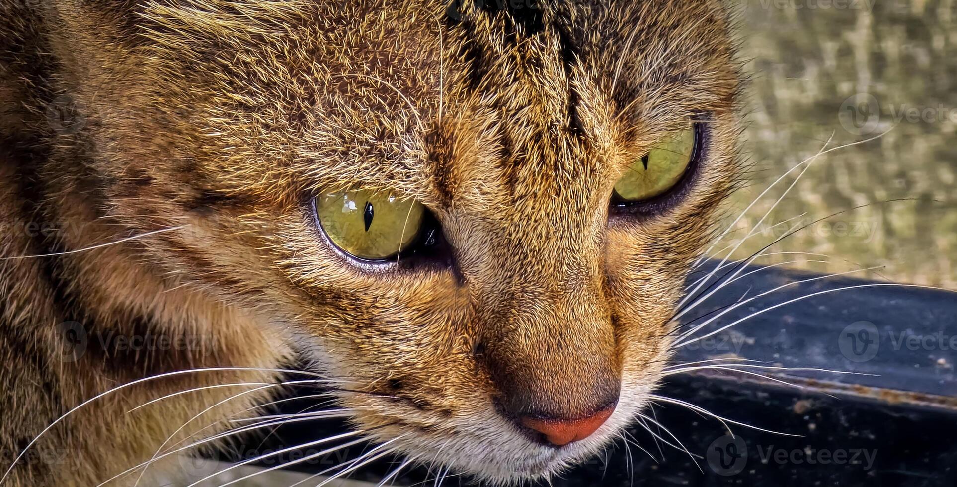
{"type": "Polygon", "coordinates": [[[692,122],[695,130],[695,142],[691,152],[691,161],[688,162],[688,166],[684,169],[678,183],[657,196],[636,201],[626,200],[612,189],[612,197],[610,198],[612,215],[639,218],[656,216],[676,207],[691,191],[691,188],[695,187],[695,183],[701,175],[701,166],[707,151],[709,134],[707,133],[706,123],[702,122],[701,116],[694,117],[692,122]]]}

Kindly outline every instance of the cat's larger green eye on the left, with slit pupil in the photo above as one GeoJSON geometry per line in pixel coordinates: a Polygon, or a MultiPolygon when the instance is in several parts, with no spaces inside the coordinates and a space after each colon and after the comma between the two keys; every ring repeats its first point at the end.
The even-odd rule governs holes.
{"type": "Polygon", "coordinates": [[[388,193],[350,190],[317,197],[316,214],[325,234],[346,253],[386,260],[415,242],[425,208],[388,193]]]}

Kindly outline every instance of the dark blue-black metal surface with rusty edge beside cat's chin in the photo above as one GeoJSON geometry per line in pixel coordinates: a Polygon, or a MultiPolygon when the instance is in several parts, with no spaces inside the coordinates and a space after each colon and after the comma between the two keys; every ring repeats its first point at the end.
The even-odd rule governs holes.
{"type": "MultiPolygon", "coordinates": [[[[761,271],[726,286],[706,306],[684,318],[693,321],[741,299],[746,292],[756,296],[812,277],[761,271]]],[[[668,377],[658,391],[725,418],[800,436],[730,425],[731,436],[713,418],[661,404],[654,410],[655,418],[669,432],[655,425],[650,428],[669,443],[678,446],[680,442],[688,453],[664,444],[639,424],[631,433],[647,452],[635,446],[626,450],[619,441],[607,454],[553,479],[552,485],[957,485],[953,467],[957,461],[953,369],[957,295],[883,284],[887,283],[829,278],[790,285],[729,311],[696,336],[810,293],[868,287],[827,292],[777,307],[712,339],[682,347],[676,359],[681,364],[734,358],[762,361],[760,365],[873,375],[747,369],[798,386],[792,387],[740,372],[703,369],[668,377]]],[[[303,407],[289,404],[288,410],[303,407]]],[[[318,427],[281,429],[268,446],[309,441],[344,426],[327,423],[322,430],[314,428],[318,427]]],[[[343,459],[323,457],[296,468],[319,472],[343,459]]],[[[393,466],[380,462],[352,477],[374,480],[393,466]]],[[[432,478],[419,469],[398,476],[395,482],[432,485],[432,478]]],[[[459,482],[467,480],[451,477],[444,485],[459,482]]]]}

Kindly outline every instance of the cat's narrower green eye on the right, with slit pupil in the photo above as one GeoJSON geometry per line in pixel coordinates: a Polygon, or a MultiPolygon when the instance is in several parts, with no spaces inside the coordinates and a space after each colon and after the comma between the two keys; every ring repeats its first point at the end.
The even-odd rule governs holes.
{"type": "Polygon", "coordinates": [[[614,185],[623,202],[637,202],[661,195],[679,183],[695,152],[695,127],[672,132],[638,158],[614,185]]]}

